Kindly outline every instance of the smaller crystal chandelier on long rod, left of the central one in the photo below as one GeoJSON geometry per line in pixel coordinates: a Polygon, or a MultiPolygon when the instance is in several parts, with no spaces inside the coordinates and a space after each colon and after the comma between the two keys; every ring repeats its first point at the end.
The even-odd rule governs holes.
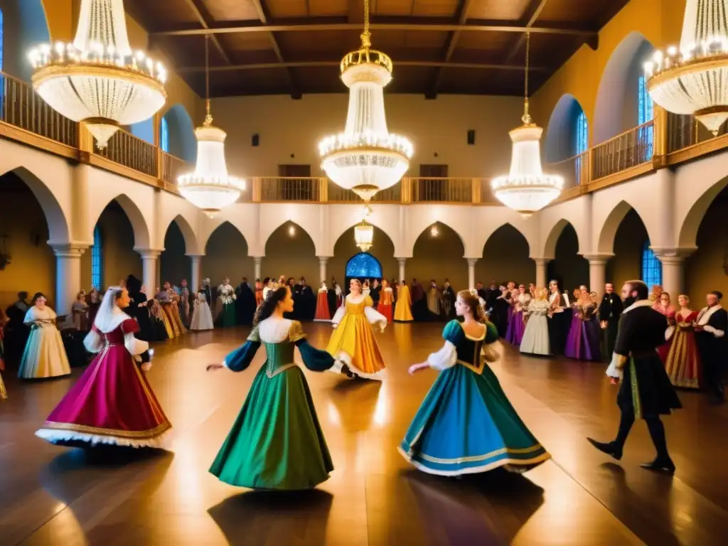
{"type": "Polygon", "coordinates": [[[232,205],[245,191],[245,181],[228,175],[225,162],[227,134],[213,125],[210,114],[210,36],[205,34],[205,106],[207,115],[197,137],[197,164],[194,173],[181,175],[177,187],[182,197],[201,208],[210,217],[232,205]]]}

